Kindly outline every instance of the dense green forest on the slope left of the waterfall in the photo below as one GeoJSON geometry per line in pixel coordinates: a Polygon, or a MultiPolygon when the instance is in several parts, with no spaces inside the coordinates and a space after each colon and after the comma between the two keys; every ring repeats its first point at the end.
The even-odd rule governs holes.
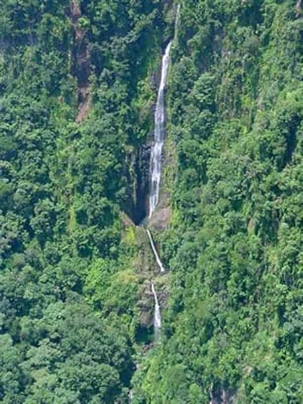
{"type": "Polygon", "coordinates": [[[0,402],[126,403],[140,312],[120,211],[162,5],[0,3],[0,402]]]}

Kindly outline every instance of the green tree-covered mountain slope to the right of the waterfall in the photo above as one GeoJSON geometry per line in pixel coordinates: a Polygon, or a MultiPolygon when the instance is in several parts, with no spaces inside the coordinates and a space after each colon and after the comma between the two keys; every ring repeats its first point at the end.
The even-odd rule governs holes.
{"type": "Polygon", "coordinates": [[[134,403],[302,402],[302,15],[295,1],[181,1],[172,282],[134,403]]]}

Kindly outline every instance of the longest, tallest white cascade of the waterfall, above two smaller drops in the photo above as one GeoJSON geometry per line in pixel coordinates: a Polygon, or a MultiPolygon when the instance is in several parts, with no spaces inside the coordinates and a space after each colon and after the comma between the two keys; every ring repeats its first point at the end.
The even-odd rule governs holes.
{"type": "Polygon", "coordinates": [[[151,176],[150,215],[149,215],[150,218],[159,200],[159,189],[160,189],[161,167],[162,167],[162,148],[165,136],[164,92],[169,68],[169,51],[171,44],[172,40],[167,45],[165,53],[162,58],[161,81],[158,90],[156,110],[154,114],[154,145],[151,148],[151,162],[150,162],[150,176],[151,176]]]}

